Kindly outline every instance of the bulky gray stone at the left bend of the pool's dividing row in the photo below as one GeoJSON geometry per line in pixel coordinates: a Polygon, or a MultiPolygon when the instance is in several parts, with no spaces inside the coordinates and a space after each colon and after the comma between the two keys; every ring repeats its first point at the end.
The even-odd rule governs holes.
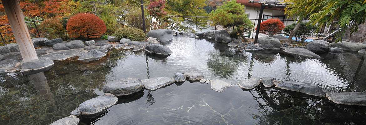
{"type": "Polygon", "coordinates": [[[141,79],[122,78],[104,84],[103,92],[116,96],[131,95],[143,89],[141,79]]]}

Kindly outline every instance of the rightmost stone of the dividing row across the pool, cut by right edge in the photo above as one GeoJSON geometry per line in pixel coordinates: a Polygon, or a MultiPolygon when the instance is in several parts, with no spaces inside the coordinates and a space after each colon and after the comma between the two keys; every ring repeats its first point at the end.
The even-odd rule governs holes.
{"type": "Polygon", "coordinates": [[[366,91],[334,93],[328,99],[337,104],[366,106],[366,91]]]}

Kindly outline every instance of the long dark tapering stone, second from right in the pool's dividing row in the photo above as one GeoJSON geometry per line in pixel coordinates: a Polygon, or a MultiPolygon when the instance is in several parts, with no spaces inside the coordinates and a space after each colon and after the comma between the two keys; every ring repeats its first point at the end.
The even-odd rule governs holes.
{"type": "Polygon", "coordinates": [[[326,97],[325,92],[319,86],[308,82],[284,81],[275,83],[275,87],[284,90],[301,92],[307,95],[326,97]]]}

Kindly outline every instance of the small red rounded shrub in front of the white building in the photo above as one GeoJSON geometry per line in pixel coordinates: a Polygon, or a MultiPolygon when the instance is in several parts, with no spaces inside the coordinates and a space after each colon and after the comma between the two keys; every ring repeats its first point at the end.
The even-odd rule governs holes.
{"type": "MultiPolygon", "coordinates": [[[[285,25],[280,19],[268,19],[261,23],[259,33],[266,35],[267,37],[274,37],[277,33],[281,32],[285,28],[285,25]]],[[[258,29],[258,28],[257,28],[258,29]]]]}

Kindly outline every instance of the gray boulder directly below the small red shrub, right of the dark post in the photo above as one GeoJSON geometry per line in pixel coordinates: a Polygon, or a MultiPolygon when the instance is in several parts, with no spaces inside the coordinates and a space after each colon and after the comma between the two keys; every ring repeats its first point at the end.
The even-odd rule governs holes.
{"type": "Polygon", "coordinates": [[[258,43],[262,44],[263,49],[269,49],[269,50],[280,50],[281,42],[277,38],[273,37],[259,37],[258,43]]]}

